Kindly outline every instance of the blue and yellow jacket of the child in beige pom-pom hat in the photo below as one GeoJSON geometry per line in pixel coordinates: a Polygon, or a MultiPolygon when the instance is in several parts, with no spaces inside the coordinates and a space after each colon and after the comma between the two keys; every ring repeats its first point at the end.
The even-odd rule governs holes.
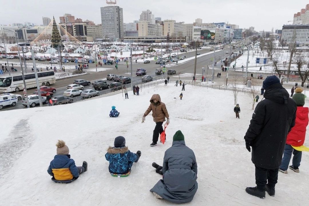
{"type": "Polygon", "coordinates": [[[70,180],[73,177],[78,178],[78,169],[74,160],[70,159],[70,154],[55,155],[49,164],[47,172],[56,180],[70,180]]]}

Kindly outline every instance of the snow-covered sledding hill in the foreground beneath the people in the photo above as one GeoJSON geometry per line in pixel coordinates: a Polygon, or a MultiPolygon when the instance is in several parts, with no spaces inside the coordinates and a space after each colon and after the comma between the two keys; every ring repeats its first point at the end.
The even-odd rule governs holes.
{"type": "Polygon", "coordinates": [[[162,178],[151,163],[162,164],[164,151],[179,129],[198,165],[198,190],[185,205],[307,205],[306,152],[300,173],[279,173],[276,196],[266,194],[261,200],[245,192],[247,186],[255,186],[251,153],[243,140],[253,112],[248,94],[239,92],[241,113],[236,119],[232,91],[186,85],[182,100],[180,92],[174,83],[160,84],[142,88],[140,96],[130,91],[130,99],[120,93],[70,105],[2,111],[0,205],[171,205],[149,191],[162,178]],[[149,146],[155,127],[151,115],[141,124],[153,94],[160,94],[171,120],[167,142],[156,147],[149,146]],[[108,116],[113,105],[120,112],[118,118],[108,116]],[[119,135],[132,152],[142,151],[125,178],[112,177],[104,158],[119,135]],[[77,166],[88,162],[88,171],[70,184],[54,183],[47,174],[58,139],[66,141],[77,166]]]}

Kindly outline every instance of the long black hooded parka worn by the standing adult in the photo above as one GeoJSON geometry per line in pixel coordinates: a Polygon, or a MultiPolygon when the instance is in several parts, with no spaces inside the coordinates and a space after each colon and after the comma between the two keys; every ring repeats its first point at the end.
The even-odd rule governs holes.
{"type": "Polygon", "coordinates": [[[277,169],[286,144],[286,136],[295,125],[296,103],[280,83],[267,88],[265,100],[252,114],[245,140],[252,146],[252,162],[265,169],[277,169]]]}

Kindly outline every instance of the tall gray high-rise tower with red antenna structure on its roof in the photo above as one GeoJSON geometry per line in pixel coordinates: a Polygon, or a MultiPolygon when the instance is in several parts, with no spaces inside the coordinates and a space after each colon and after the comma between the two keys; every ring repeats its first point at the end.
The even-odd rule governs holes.
{"type": "Polygon", "coordinates": [[[119,6],[101,7],[103,36],[109,39],[121,39],[123,32],[123,14],[119,6]]]}

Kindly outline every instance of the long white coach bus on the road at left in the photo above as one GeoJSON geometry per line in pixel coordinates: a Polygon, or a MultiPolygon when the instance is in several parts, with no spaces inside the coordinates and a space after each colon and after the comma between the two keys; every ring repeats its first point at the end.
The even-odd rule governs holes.
{"type": "MultiPolygon", "coordinates": [[[[25,74],[25,82],[27,89],[36,87],[36,77],[34,73],[25,74]]],[[[49,86],[56,83],[55,73],[53,71],[38,72],[40,86],[49,86]]],[[[19,92],[23,90],[23,76],[12,75],[11,77],[0,76],[0,92],[19,92]]]]}

